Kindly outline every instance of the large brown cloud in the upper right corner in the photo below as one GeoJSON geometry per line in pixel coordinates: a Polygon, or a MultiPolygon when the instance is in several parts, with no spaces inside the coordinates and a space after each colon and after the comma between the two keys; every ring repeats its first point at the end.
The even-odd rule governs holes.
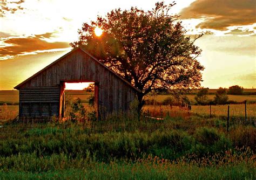
{"type": "Polygon", "coordinates": [[[181,12],[182,19],[205,18],[201,29],[226,30],[228,26],[256,23],[255,0],[197,0],[181,12]]]}

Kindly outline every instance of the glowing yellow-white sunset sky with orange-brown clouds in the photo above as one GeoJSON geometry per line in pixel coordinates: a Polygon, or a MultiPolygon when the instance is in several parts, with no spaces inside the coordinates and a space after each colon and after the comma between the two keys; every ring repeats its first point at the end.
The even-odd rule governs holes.
{"type": "MultiPolygon", "coordinates": [[[[78,39],[84,22],[112,9],[151,10],[157,0],[0,0],[0,90],[13,89],[59,57],[78,39]]],[[[165,4],[172,3],[165,1],[165,4]]],[[[256,1],[177,0],[187,36],[204,33],[201,86],[256,87],[256,1]]]]}

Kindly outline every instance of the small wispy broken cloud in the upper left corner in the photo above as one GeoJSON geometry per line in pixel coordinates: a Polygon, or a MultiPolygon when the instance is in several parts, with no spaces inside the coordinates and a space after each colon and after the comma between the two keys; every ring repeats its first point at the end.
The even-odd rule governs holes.
{"type": "Polygon", "coordinates": [[[23,10],[24,8],[22,8],[21,4],[24,3],[25,0],[21,0],[18,2],[7,2],[5,0],[2,0],[0,2],[0,17],[4,17],[6,12],[11,12],[11,13],[15,13],[17,10],[23,10]],[[15,8],[9,8],[9,4],[16,4],[15,8]]]}

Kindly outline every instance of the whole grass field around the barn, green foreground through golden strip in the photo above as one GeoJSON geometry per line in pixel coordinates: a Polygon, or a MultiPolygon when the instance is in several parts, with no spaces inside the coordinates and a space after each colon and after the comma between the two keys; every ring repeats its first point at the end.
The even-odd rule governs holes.
{"type": "MultiPolygon", "coordinates": [[[[90,96],[66,94],[70,101],[90,96]]],[[[230,105],[228,132],[227,105],[212,106],[212,117],[209,106],[147,105],[140,121],[119,112],[47,123],[11,123],[18,106],[0,109],[0,179],[256,178],[255,103],[247,121],[244,104],[230,105]]]]}

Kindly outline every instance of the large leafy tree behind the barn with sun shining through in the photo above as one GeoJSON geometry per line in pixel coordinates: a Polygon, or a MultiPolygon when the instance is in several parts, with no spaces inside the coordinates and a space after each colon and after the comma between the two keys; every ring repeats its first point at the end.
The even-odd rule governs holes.
{"type": "Polygon", "coordinates": [[[106,66],[129,81],[138,92],[138,109],[144,96],[165,89],[200,86],[204,67],[197,61],[201,50],[186,37],[177,15],[170,15],[173,4],[156,3],[150,11],[115,9],[78,31],[72,47],[83,46],[106,66]],[[97,37],[93,30],[103,30],[97,37]]]}

